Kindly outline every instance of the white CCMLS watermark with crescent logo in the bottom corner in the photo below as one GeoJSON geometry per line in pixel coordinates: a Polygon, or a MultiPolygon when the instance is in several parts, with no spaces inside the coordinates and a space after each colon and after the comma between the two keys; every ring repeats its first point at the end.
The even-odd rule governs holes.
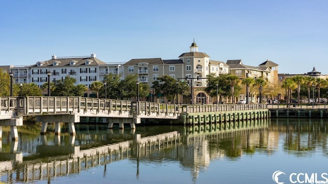
{"type": "Polygon", "coordinates": [[[311,183],[328,184],[328,173],[291,173],[285,174],[282,171],[275,171],[272,179],[277,184],[283,183],[311,183]]]}

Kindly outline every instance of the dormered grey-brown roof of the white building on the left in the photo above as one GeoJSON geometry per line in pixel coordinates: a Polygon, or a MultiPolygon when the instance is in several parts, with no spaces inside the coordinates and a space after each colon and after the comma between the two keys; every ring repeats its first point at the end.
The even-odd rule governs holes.
{"type": "Polygon", "coordinates": [[[63,67],[63,66],[72,66],[70,65],[70,62],[75,62],[74,66],[97,66],[97,65],[103,65],[106,64],[104,61],[101,61],[95,57],[85,57],[85,58],[65,58],[65,59],[51,59],[47,61],[39,61],[37,63],[42,63],[42,65],[37,66],[37,63],[30,65],[29,67],[63,67]],[[89,64],[86,64],[86,61],[89,61],[89,64]],[[53,63],[56,62],[57,65],[53,65],[53,63]]]}

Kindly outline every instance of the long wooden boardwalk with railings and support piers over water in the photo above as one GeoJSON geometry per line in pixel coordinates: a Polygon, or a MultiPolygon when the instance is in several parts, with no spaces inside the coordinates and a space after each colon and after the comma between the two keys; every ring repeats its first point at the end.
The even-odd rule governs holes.
{"type": "Polygon", "coordinates": [[[75,134],[74,123],[80,122],[80,117],[101,117],[108,128],[118,123],[120,128],[130,124],[135,129],[141,119],[206,124],[270,116],[266,104],[180,105],[83,97],[4,97],[0,101],[0,127],[13,127],[13,139],[18,138],[16,126],[23,125],[23,116],[36,116],[37,122],[43,123],[42,134],[48,123],[55,123],[56,134],[60,134],[60,123],[68,123],[75,134]]]}

